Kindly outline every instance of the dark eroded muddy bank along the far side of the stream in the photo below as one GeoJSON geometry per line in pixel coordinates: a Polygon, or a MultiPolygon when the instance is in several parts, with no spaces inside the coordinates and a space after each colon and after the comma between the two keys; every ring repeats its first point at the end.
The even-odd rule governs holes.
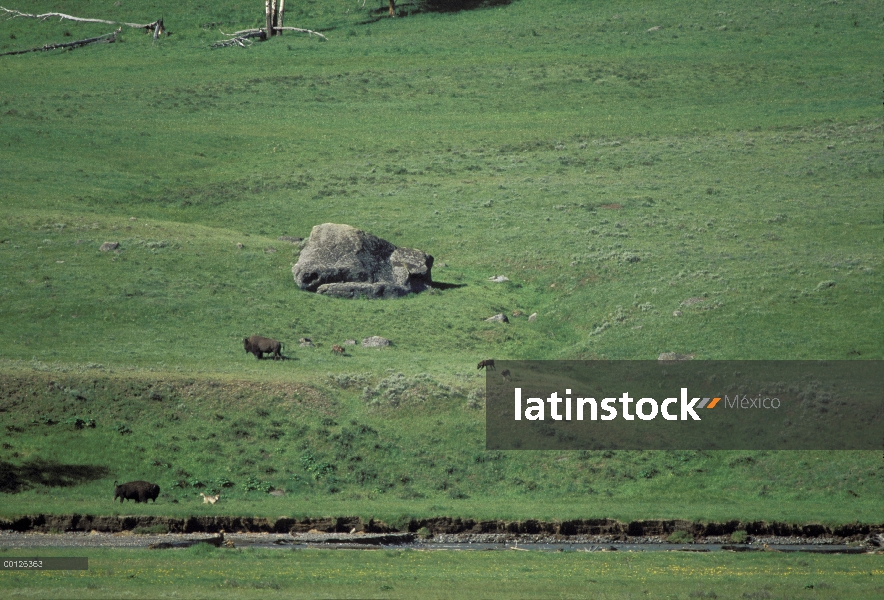
{"type": "Polygon", "coordinates": [[[792,537],[801,539],[830,538],[844,542],[859,541],[871,535],[884,533],[884,524],[847,523],[822,525],[819,523],[783,523],[767,521],[739,521],[726,523],[699,523],[684,520],[644,520],[624,523],[614,519],[576,519],[570,521],[476,521],[473,519],[433,517],[410,519],[397,526],[360,517],[328,517],[295,519],[280,517],[194,516],[186,518],[160,516],[94,516],[94,515],[26,515],[14,519],[0,519],[0,530],[17,532],[57,533],[97,531],[151,531],[163,533],[421,533],[442,534],[508,534],[573,537],[603,535],[612,540],[628,541],[643,537],[666,537],[675,532],[686,532],[695,540],[729,536],[745,531],[753,537],[792,537]]]}

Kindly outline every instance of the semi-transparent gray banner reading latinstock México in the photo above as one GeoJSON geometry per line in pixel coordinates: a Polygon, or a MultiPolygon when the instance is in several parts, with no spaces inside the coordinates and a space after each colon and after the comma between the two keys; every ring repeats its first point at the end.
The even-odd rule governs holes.
{"type": "Polygon", "coordinates": [[[881,450],[884,361],[496,361],[489,450],[881,450]]]}

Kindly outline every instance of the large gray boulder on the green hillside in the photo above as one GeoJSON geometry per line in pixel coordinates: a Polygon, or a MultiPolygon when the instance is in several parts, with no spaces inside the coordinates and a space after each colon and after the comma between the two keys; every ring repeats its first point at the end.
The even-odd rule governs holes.
{"type": "Polygon", "coordinates": [[[310,232],[292,267],[302,290],[344,298],[395,298],[432,283],[433,257],[349,225],[324,223],[310,232]]]}

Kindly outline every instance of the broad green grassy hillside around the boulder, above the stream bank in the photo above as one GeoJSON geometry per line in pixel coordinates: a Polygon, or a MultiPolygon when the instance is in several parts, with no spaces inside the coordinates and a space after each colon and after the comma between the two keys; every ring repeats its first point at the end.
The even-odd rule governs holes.
{"type": "MultiPolygon", "coordinates": [[[[324,0],[286,21],[327,42],[210,49],[260,4],[10,7],[172,35],[0,57],[0,510],[145,478],[170,514],[880,520],[875,453],[486,453],[475,369],[881,359],[875,3],[324,0]],[[324,222],[454,285],[302,292],[278,237],[324,222]]],[[[111,29],[6,20],[0,52],[111,29]]]]}

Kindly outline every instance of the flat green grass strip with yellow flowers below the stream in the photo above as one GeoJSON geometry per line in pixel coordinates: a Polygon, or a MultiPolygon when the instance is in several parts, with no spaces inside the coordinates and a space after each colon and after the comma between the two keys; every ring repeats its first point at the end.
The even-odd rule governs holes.
{"type": "MultiPolygon", "coordinates": [[[[0,552],[0,558],[11,555],[0,552]]],[[[19,553],[20,554],[20,553],[19,553]]],[[[19,556],[16,554],[15,556],[19,556]]],[[[10,598],[877,598],[874,556],[57,550],[88,571],[0,572],[10,598]]]]}

